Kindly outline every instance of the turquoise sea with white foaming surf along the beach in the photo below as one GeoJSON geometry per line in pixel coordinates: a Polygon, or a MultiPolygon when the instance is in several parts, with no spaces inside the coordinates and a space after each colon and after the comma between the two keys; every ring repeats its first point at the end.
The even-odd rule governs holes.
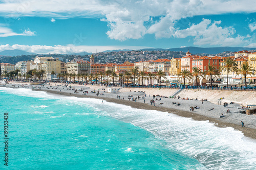
{"type": "Polygon", "coordinates": [[[0,99],[0,169],[256,169],[256,140],[232,128],[30,89],[0,99]]]}

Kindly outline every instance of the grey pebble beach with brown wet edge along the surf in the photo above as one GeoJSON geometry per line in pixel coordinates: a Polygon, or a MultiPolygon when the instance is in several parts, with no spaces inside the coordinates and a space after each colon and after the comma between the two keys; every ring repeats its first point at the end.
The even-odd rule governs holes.
{"type": "MultiPolygon", "coordinates": [[[[16,85],[18,85],[18,84],[16,84],[16,85]]],[[[77,85],[72,85],[72,86],[76,86],[75,88],[84,87],[84,86],[77,86],[77,85]]],[[[18,87],[12,87],[12,85],[10,85],[10,86],[0,86],[0,87],[18,88],[18,87]]],[[[30,86],[30,87],[32,87],[32,86],[30,86]]],[[[54,87],[60,88],[59,86],[54,86],[54,87]]],[[[87,87],[85,86],[85,88],[86,88],[86,90],[89,91],[89,90],[93,90],[93,88],[94,89],[95,88],[101,89],[101,88],[105,88],[105,87],[104,86],[103,87],[102,86],[93,86],[93,88],[92,88],[90,86],[87,86],[87,87]]],[[[147,103],[145,103],[145,104],[144,104],[143,100],[138,100],[137,102],[133,102],[133,101],[129,101],[129,100],[126,100],[126,99],[125,100],[119,100],[119,99],[116,98],[116,95],[122,95],[122,98],[123,98],[123,96],[127,96],[127,93],[134,94],[134,97],[137,96],[137,95],[142,95],[142,94],[144,95],[145,94],[145,93],[141,93],[141,92],[121,92],[121,93],[114,93],[114,94],[109,94],[109,93],[105,92],[104,95],[95,96],[95,93],[88,93],[86,95],[82,95],[81,93],[80,94],[75,94],[75,93],[73,93],[74,91],[67,91],[67,90],[65,91],[65,88],[63,88],[63,90],[62,89],[61,90],[59,90],[59,89],[56,90],[56,89],[53,89],[53,88],[50,89],[49,87],[48,87],[48,89],[36,89],[36,88],[30,88],[30,89],[32,89],[33,91],[46,91],[47,93],[50,93],[50,94],[75,96],[77,98],[100,99],[100,100],[105,100],[107,102],[112,102],[112,103],[122,104],[122,105],[126,105],[126,106],[131,106],[132,108],[143,109],[143,110],[157,110],[157,111],[161,111],[161,112],[168,112],[168,113],[176,114],[176,115],[182,116],[182,117],[193,118],[194,120],[197,120],[197,121],[209,121],[210,123],[214,123],[214,125],[217,126],[217,127],[220,127],[220,128],[232,127],[234,130],[241,131],[244,134],[244,136],[252,138],[252,139],[256,139],[255,122],[252,121],[253,126],[251,126],[251,127],[250,126],[248,127],[247,124],[245,124],[246,127],[242,128],[241,124],[234,124],[234,123],[230,122],[230,118],[233,118],[232,115],[231,115],[232,113],[230,113],[229,115],[226,114],[226,118],[229,118],[229,119],[217,118],[217,117],[219,117],[219,115],[216,116],[216,112],[217,112],[217,114],[219,113],[219,110],[220,110],[221,106],[216,105],[216,104],[212,104],[210,102],[205,102],[206,104],[204,104],[204,107],[207,106],[207,105],[210,105],[209,107],[214,106],[214,107],[218,107],[218,108],[215,109],[215,112],[212,112],[212,115],[207,116],[207,115],[202,115],[202,112],[204,112],[205,109],[204,110],[196,109],[197,111],[194,111],[194,112],[189,111],[188,108],[186,109],[187,106],[189,106],[189,105],[193,106],[193,104],[195,104],[195,103],[197,105],[199,105],[198,102],[201,102],[201,101],[183,101],[183,100],[179,100],[179,102],[181,102],[181,104],[182,104],[182,102],[185,102],[185,103],[188,103],[188,104],[186,104],[186,105],[184,104],[185,107],[182,106],[182,107],[178,107],[178,108],[177,107],[172,108],[172,107],[175,107],[175,106],[172,106],[169,103],[172,102],[172,101],[175,101],[175,99],[165,99],[165,98],[163,98],[161,102],[163,102],[164,105],[158,105],[157,104],[156,106],[154,106],[154,105],[148,104],[148,102],[150,100],[150,98],[148,98],[148,96],[146,98],[147,103]]],[[[176,102],[177,102],[177,100],[176,100],[176,102]]],[[[203,105],[201,105],[200,107],[203,107],[203,105]]],[[[234,110],[234,108],[230,108],[230,110],[231,109],[234,110]]],[[[239,114],[239,113],[234,113],[234,114],[239,114]]],[[[244,116],[255,116],[255,115],[240,114],[240,115],[236,115],[236,116],[240,116],[239,119],[242,119],[241,116],[244,117],[244,116]]],[[[253,117],[253,118],[256,118],[256,116],[253,117]]]]}

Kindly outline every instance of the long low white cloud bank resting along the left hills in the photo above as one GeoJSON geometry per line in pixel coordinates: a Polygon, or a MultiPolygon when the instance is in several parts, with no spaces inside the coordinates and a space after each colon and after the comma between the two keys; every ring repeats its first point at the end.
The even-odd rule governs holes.
{"type": "Polygon", "coordinates": [[[20,45],[20,44],[13,44],[13,45],[0,45],[0,51],[4,50],[23,50],[30,53],[37,53],[37,54],[69,54],[69,53],[80,53],[80,52],[88,52],[88,53],[96,53],[103,52],[106,50],[139,50],[142,48],[151,48],[148,46],[87,46],[87,45],[80,45],[75,46],[73,44],[69,45],[54,45],[54,46],[47,46],[47,45],[20,45]]]}

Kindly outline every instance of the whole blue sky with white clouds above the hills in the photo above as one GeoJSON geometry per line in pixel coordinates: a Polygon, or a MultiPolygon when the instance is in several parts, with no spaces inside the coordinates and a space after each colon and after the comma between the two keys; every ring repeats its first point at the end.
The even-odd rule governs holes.
{"type": "Polygon", "coordinates": [[[251,0],[0,0],[0,51],[256,47],[251,0]]]}

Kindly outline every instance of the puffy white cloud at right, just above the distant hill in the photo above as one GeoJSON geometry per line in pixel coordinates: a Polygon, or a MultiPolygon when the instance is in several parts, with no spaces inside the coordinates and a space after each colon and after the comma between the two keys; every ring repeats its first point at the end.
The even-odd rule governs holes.
{"type": "Polygon", "coordinates": [[[189,28],[184,30],[177,30],[173,34],[175,38],[194,37],[194,44],[196,45],[221,45],[221,46],[233,46],[243,43],[245,37],[236,36],[236,30],[232,27],[220,27],[221,22],[214,21],[213,23],[209,19],[203,19],[197,25],[193,24],[189,28]]]}

